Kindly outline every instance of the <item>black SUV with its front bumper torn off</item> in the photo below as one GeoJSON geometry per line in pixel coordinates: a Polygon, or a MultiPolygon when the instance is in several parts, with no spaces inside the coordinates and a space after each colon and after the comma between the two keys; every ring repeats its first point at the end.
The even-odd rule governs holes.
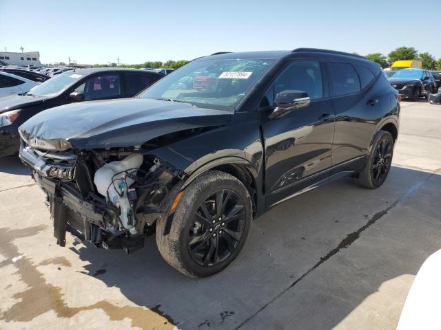
{"type": "Polygon", "coordinates": [[[59,245],[68,230],[132,252],[156,230],[170,265],[209,276],[271,206],[346,175],[381,186],[399,112],[398,92],[362,56],[218,53],[137,98],[35,115],[20,127],[20,157],[59,245]]]}

